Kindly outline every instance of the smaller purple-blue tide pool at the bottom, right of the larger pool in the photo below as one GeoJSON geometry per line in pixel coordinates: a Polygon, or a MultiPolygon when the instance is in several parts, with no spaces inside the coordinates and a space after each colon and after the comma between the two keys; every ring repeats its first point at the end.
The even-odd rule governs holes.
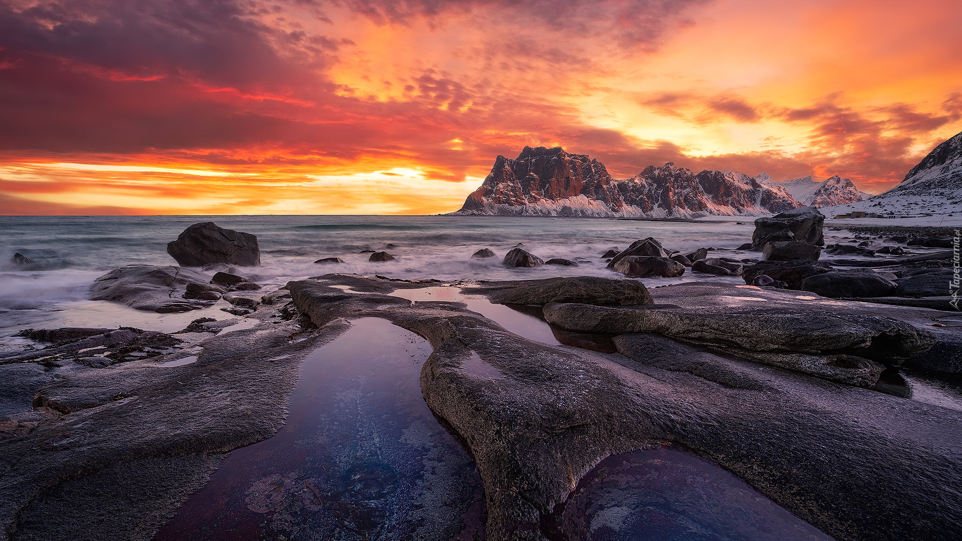
{"type": "Polygon", "coordinates": [[[602,460],[543,521],[552,541],[831,541],[738,477],[660,448],[602,460]]]}

